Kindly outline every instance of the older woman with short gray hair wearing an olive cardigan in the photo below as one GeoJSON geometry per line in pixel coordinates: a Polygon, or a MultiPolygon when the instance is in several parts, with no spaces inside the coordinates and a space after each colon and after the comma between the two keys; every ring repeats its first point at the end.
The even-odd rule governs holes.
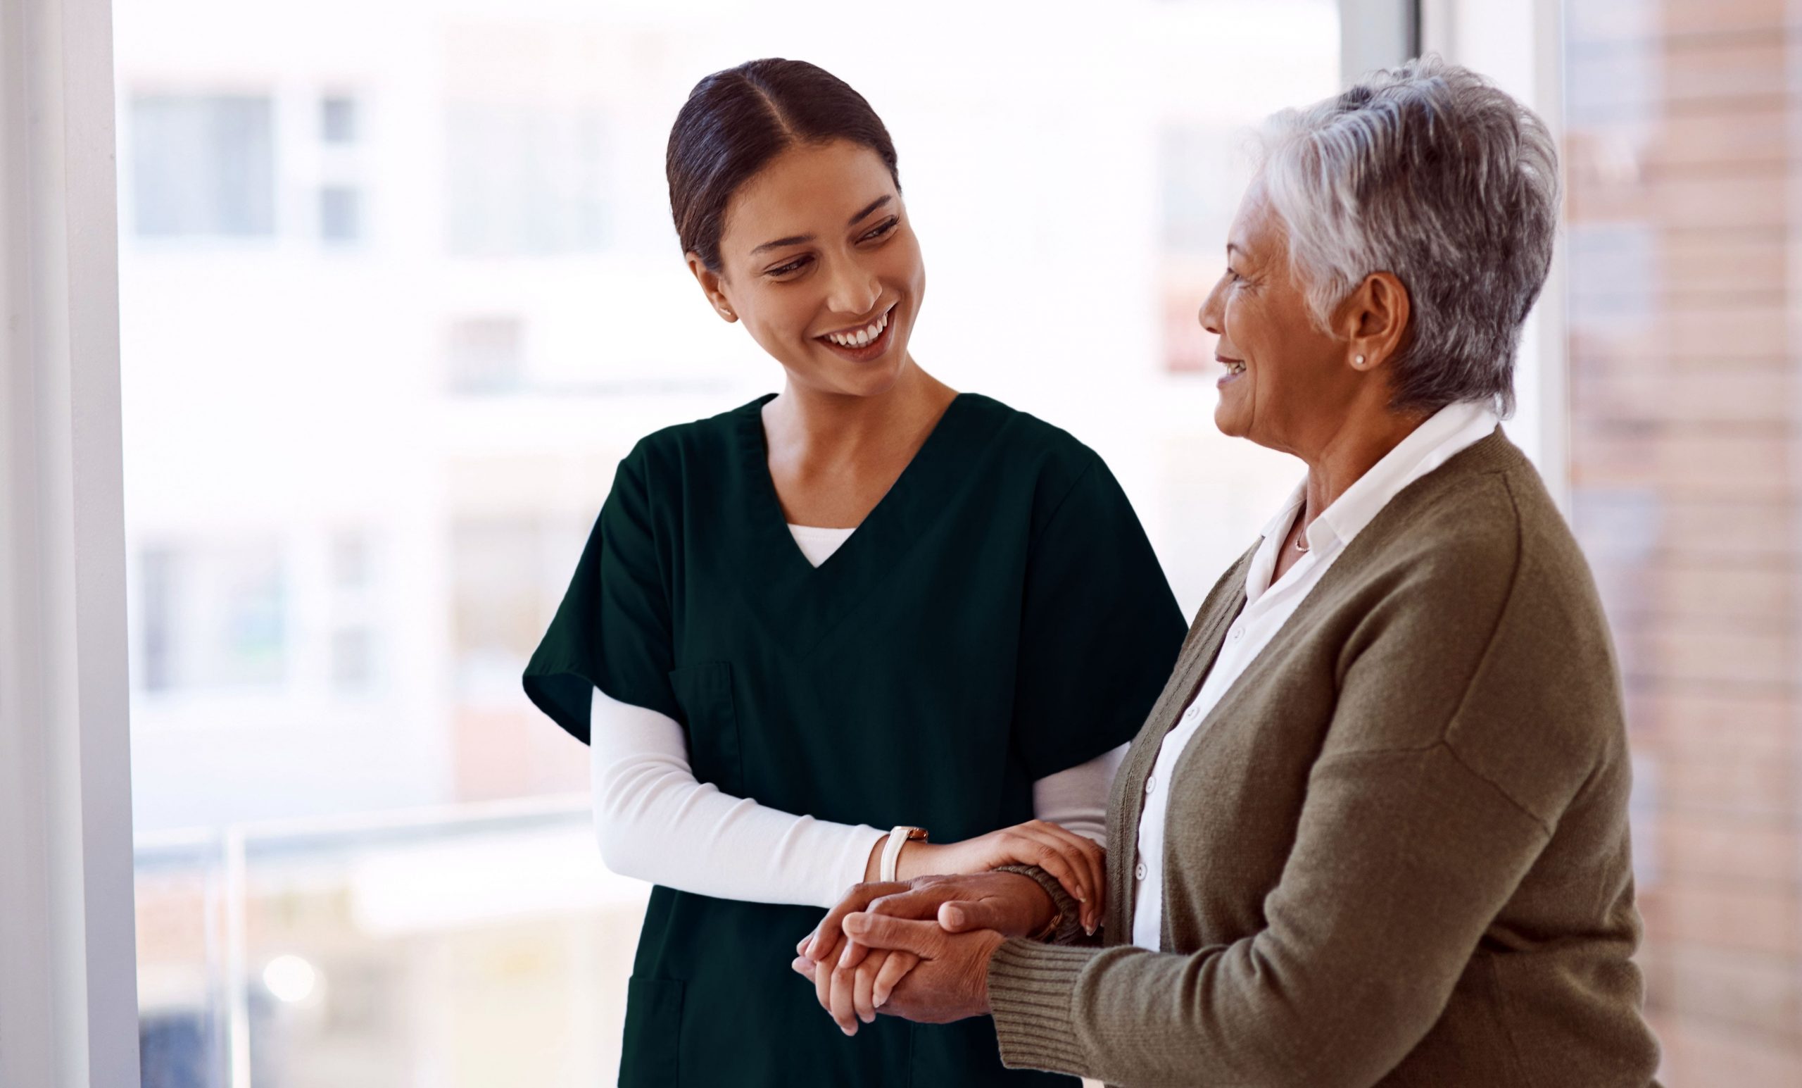
{"type": "Polygon", "coordinates": [[[1099,946],[1038,872],[867,884],[795,962],[842,1027],[993,1012],[1137,1088],[1652,1083],[1607,629],[1497,429],[1555,222],[1544,124],[1463,68],[1272,119],[1200,321],[1220,429],[1308,474],[1114,784],[1099,946]]]}

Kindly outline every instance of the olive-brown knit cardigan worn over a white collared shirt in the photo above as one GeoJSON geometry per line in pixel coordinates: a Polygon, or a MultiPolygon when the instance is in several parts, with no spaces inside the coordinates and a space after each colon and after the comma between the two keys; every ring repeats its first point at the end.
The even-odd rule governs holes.
{"type": "Polygon", "coordinates": [[[1144,780],[1249,560],[1114,784],[1106,947],[1067,926],[989,964],[1002,1059],[1130,1088],[1654,1083],[1607,627],[1499,429],[1397,495],[1202,722],[1162,951],[1126,944],[1144,780]]]}

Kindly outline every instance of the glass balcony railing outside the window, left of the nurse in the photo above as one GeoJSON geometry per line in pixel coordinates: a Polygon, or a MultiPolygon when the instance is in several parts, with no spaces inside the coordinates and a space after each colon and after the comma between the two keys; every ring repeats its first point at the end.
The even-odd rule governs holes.
{"type": "Polygon", "coordinates": [[[582,794],[142,836],[142,1084],[611,1084],[647,893],[582,794]]]}

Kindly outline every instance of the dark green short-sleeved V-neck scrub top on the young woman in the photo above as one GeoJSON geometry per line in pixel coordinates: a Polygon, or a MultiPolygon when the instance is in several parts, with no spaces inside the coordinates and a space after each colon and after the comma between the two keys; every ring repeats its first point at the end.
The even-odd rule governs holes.
{"type": "MultiPolygon", "coordinates": [[[[723,793],[941,843],[1031,820],[1033,780],[1133,739],[1186,623],[1101,458],[964,393],[813,567],[769,479],[771,396],[620,463],[526,666],[544,713],[586,742],[598,686],[681,722],[723,793]]],[[[789,967],[824,913],[654,888],[620,1084],[1078,1083],[1002,1068],[987,1016],[843,1036],[789,967]]]]}

